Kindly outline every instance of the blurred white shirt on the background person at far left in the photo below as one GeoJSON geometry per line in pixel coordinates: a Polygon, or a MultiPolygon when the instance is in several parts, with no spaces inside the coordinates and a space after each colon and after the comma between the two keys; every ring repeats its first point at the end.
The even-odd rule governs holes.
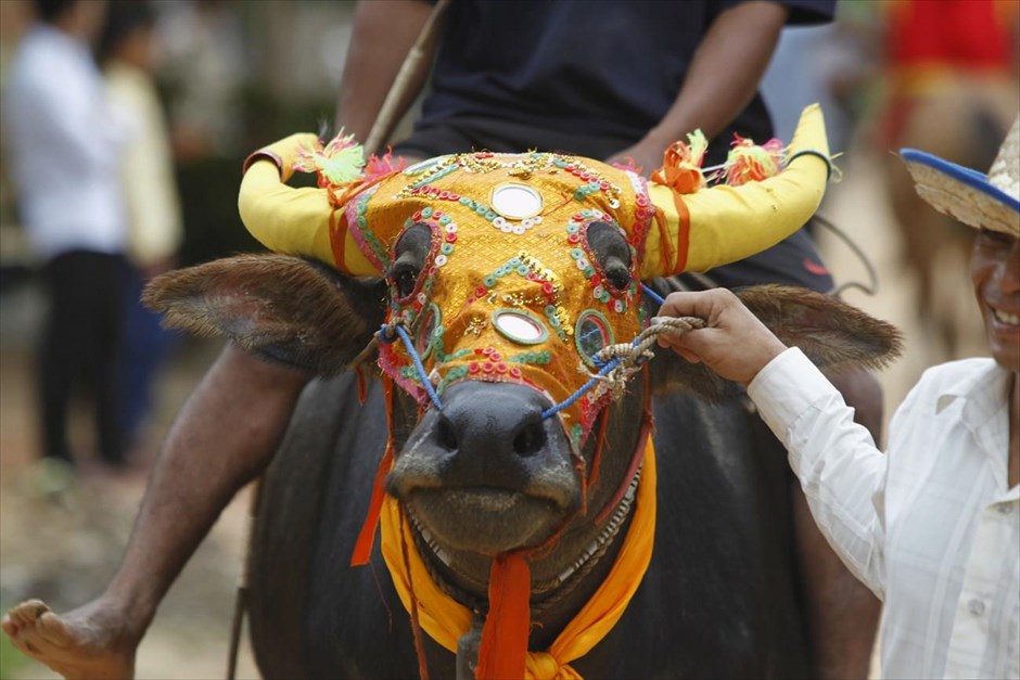
{"type": "Polygon", "coordinates": [[[3,93],[3,145],[39,256],[124,251],[117,172],[126,136],[88,47],[48,25],[29,30],[3,93]]]}

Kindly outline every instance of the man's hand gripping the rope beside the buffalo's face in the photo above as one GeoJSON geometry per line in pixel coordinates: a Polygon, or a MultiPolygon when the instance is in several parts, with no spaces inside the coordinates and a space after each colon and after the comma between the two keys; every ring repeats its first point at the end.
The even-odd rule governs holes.
{"type": "Polygon", "coordinates": [[[726,288],[673,293],[661,317],[698,317],[705,328],[683,334],[662,333],[659,345],[692,363],[704,362],[726,380],[747,385],[787,347],[726,288]]]}

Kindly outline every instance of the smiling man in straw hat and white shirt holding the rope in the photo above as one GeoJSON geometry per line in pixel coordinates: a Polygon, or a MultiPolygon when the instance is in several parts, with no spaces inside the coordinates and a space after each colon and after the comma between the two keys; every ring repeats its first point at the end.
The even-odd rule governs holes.
{"type": "Polygon", "coordinates": [[[816,523],[884,602],[883,676],[1017,678],[1020,118],[987,176],[901,153],[922,198],[979,230],[970,275],[992,358],[929,369],[893,416],[885,456],[814,364],[728,291],[667,297],[660,315],[707,326],[660,344],[748,386],[816,523]]]}

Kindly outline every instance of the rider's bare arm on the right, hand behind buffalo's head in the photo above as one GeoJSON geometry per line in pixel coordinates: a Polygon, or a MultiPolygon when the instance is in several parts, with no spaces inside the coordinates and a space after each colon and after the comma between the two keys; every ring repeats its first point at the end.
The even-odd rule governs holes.
{"type": "Polygon", "coordinates": [[[629,156],[647,175],[662,165],[663,151],[688,132],[701,128],[709,139],[722,132],[757,92],[788,15],[785,5],[764,0],[719,13],[701,39],[673,106],[641,141],[611,161],[629,156]]]}

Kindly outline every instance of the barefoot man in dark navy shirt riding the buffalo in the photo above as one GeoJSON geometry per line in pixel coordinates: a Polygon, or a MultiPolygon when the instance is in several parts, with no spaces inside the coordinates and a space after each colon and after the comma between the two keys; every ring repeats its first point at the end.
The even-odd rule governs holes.
{"type": "MultiPolygon", "coordinates": [[[[772,137],[757,84],[783,24],[829,21],[833,7],[834,0],[455,0],[438,37],[433,90],[411,138],[395,151],[421,159],[472,147],[540,147],[633,159],[650,172],[674,141],[701,128],[723,141],[710,145],[704,165],[719,163],[734,132],[758,141],[772,137]],[[549,51],[539,53],[541,46],[549,51]]],[[[358,5],[336,116],[347,132],[367,140],[432,8],[426,0],[358,5]]],[[[422,60],[400,111],[430,64],[422,60]]],[[[712,274],[724,285],[779,280],[832,286],[800,232],[770,255],[712,274]]],[[[844,388],[857,394],[858,416],[880,431],[875,380],[864,373],[842,377],[844,388]]],[[[38,601],[14,607],[3,628],[18,649],[31,653],[30,642],[34,656],[65,675],[128,676],[160,600],[224,505],[271,460],[309,379],[228,345],[167,437],[111,586],[63,616],[38,601]]],[[[840,572],[803,497],[796,491],[793,498],[816,668],[820,677],[863,677],[878,603],[840,572]]]]}

